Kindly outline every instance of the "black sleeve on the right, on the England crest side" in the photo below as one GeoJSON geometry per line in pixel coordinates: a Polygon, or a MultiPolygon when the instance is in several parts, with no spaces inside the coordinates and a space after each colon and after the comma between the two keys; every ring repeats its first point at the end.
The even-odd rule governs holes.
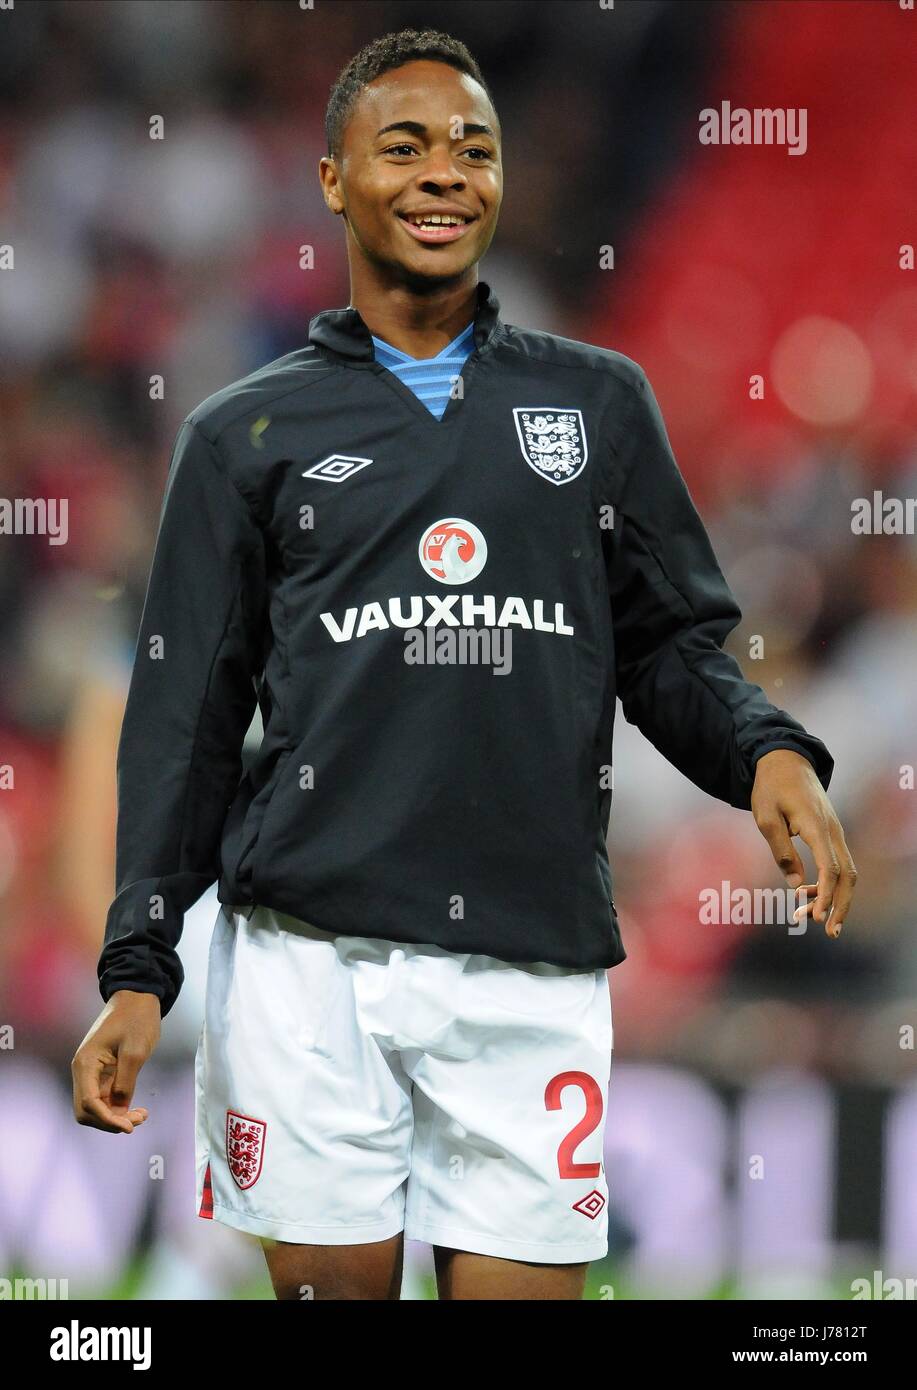
{"type": "Polygon", "coordinates": [[[606,545],[624,716],[695,785],[749,809],[754,764],[802,753],[828,787],[824,744],[746,681],[722,644],[742,612],[717,564],[646,375],[613,449],[606,545]]]}

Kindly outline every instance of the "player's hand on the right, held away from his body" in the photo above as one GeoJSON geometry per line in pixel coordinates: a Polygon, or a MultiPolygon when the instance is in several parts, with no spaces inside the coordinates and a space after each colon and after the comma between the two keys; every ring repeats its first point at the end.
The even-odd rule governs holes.
{"type": "Polygon", "coordinates": [[[843,827],[809,759],[789,748],[775,748],[759,758],[752,815],[791,888],[816,894],[814,903],[804,903],[798,915],[811,910],[817,922],[824,922],[829,937],[839,937],[853,898],[856,867],[843,827]],[[811,849],[817,884],[803,884],[806,870],[792,835],[799,835],[811,849]]]}

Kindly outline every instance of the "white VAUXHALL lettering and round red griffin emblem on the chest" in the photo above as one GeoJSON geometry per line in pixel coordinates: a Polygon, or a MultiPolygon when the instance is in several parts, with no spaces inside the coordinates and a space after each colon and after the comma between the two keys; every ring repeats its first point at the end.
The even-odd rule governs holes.
{"type": "MultiPolygon", "coordinates": [[[[471,521],[443,517],[424,531],[417,553],[428,578],[438,584],[468,584],[488,563],[488,542],[471,521]]],[[[535,632],[574,635],[572,627],[564,621],[563,603],[534,599],[529,612],[525,599],[506,598],[497,609],[493,594],[484,594],[479,599],[472,594],[447,594],[443,598],[414,594],[407,599],[390,598],[349,607],[340,620],[332,613],[321,613],[320,617],[335,642],[349,642],[390,627],[475,627],[478,620],[484,627],[522,627],[535,632]]]]}

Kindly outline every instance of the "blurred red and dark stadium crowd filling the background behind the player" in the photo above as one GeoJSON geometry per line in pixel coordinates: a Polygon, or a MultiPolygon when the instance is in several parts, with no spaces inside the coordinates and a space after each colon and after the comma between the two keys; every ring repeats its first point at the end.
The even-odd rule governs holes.
{"type": "MultiPolygon", "coordinates": [[[[0,496],[65,498],[69,527],[60,546],[0,537],[0,766],[14,777],[0,1023],[29,1055],[60,1066],[100,1006],[114,759],[175,431],[347,303],[318,183],[328,90],[370,38],[432,25],[470,44],[503,122],[506,199],[481,267],[503,318],[647,371],[743,607],[729,649],[834,753],[860,872],[838,942],[817,924],[702,924],[702,890],[782,878],[752,817],[618,714],[616,1056],[724,1081],[770,1066],[913,1077],[889,1030],[917,999],[917,546],[850,523],[874,489],[917,496],[917,271],[899,256],[917,125],[913,28],[898,18],[866,0],[38,0],[0,14],[0,247],[14,249],[0,496]],[[807,106],[806,157],[703,149],[697,111],[727,95],[807,106]]],[[[196,963],[167,1044],[185,1063],[214,908],[186,927],[196,963]]]]}

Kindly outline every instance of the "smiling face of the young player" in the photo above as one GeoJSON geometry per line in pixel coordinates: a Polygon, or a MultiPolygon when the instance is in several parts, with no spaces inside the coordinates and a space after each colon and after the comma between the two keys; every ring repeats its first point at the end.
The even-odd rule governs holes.
{"type": "Polygon", "coordinates": [[[383,72],[357,99],[325,200],[347,249],[406,284],[460,278],[481,260],[503,197],[500,132],[484,88],[445,63],[383,72]],[[424,217],[435,221],[418,225],[424,217]]]}

